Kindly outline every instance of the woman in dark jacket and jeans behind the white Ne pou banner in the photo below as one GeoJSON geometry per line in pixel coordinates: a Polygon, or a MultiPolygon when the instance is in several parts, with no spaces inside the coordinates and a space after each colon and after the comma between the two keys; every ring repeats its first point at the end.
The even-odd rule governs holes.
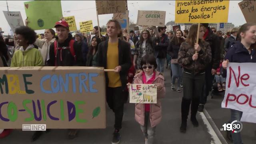
{"type": "MultiPolygon", "coordinates": [[[[222,76],[226,77],[229,62],[256,62],[256,24],[243,24],[238,32],[238,41],[232,42],[231,47],[229,48],[225,60],[222,62],[223,73],[222,76]]],[[[240,121],[242,118],[243,112],[239,110],[231,110],[231,120],[240,121]]],[[[237,130],[237,129],[234,129],[237,130]]],[[[231,131],[226,131],[228,135],[232,135],[234,144],[242,144],[241,133],[235,133],[231,131]]]]}

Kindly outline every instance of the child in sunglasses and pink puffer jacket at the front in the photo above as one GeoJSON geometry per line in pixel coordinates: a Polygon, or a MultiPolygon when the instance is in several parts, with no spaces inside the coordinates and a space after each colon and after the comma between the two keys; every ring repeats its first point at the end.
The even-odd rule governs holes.
{"type": "MultiPolygon", "coordinates": [[[[134,84],[156,84],[156,104],[135,104],[135,120],[145,136],[145,144],[154,144],[156,125],[162,118],[160,98],[165,96],[164,77],[156,71],[157,64],[154,55],[142,57],[140,69],[142,71],[134,76],[134,84]]],[[[130,83],[127,84],[130,86],[130,83]]]]}

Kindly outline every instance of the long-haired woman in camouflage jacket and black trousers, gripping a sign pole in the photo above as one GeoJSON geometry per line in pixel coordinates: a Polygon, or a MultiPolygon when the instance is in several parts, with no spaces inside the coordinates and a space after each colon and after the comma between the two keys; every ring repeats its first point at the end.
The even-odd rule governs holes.
{"type": "Polygon", "coordinates": [[[199,41],[196,44],[198,24],[193,24],[189,29],[188,38],[180,45],[178,63],[184,68],[182,82],[184,86],[181,102],[181,126],[180,132],[185,133],[187,127],[188,112],[191,103],[191,122],[198,127],[196,113],[199,98],[202,95],[205,80],[205,68],[211,62],[212,53],[210,44],[203,40],[204,29],[200,26],[199,41]]]}

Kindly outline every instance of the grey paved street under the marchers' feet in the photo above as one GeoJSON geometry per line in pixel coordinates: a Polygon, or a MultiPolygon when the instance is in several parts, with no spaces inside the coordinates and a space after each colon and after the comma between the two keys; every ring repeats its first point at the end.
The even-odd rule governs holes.
{"type": "MultiPolygon", "coordinates": [[[[181,124],[180,104],[182,93],[170,90],[169,69],[165,70],[164,76],[166,78],[166,97],[162,99],[162,122],[156,128],[156,144],[227,144],[224,139],[225,132],[216,131],[220,130],[222,125],[230,118],[230,110],[223,109],[220,105],[224,93],[214,95],[213,99],[208,99],[206,110],[210,117],[207,114],[205,116],[203,113],[198,113],[199,127],[194,128],[190,119],[188,119],[187,132],[181,134],[179,127],[181,124]]],[[[124,109],[121,144],[144,144],[144,136],[140,126],[134,120],[134,104],[127,103],[124,109]]],[[[243,124],[242,138],[244,144],[255,144],[256,125],[252,123],[243,124]]],[[[33,132],[14,130],[10,136],[0,139],[0,144],[111,144],[113,131],[114,113],[107,108],[106,129],[80,130],[78,137],[74,140],[68,139],[67,130],[52,130],[43,134],[37,141],[30,142],[33,132]]]]}

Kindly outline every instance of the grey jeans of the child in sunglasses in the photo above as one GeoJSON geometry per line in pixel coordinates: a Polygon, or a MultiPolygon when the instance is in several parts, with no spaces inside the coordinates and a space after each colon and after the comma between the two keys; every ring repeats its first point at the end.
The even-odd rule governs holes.
{"type": "Polygon", "coordinates": [[[156,135],[156,126],[151,128],[150,124],[150,112],[145,112],[144,126],[140,125],[140,128],[145,136],[148,139],[147,144],[154,144],[154,138],[156,135]]]}

